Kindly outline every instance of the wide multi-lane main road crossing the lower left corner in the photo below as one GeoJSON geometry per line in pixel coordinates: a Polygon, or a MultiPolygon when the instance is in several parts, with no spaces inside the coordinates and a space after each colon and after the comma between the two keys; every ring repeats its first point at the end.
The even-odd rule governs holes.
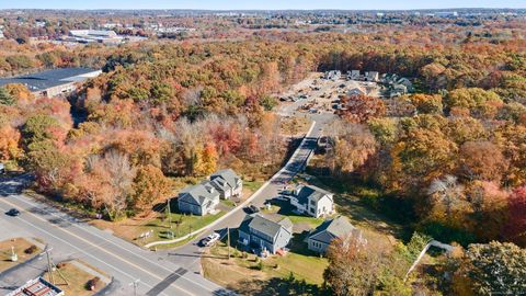
{"type": "MultiPolygon", "coordinates": [[[[11,207],[22,210],[22,215],[14,218],[0,215],[2,236],[9,232],[12,236],[41,238],[53,248],[55,262],[80,259],[111,274],[114,284],[107,295],[134,295],[129,284],[135,280],[140,280],[138,295],[231,294],[185,266],[167,260],[162,254],[142,250],[53,207],[16,194],[16,186],[13,181],[0,183],[0,212],[4,213],[11,207]]],[[[37,259],[21,270],[3,274],[0,294],[42,273],[45,266],[42,261],[37,259]]]]}

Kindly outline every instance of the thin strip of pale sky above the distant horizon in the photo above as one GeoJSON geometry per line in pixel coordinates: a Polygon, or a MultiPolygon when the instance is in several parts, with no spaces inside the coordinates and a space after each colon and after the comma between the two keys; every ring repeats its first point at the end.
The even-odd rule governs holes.
{"type": "Polygon", "coordinates": [[[0,3],[0,10],[195,10],[195,11],[408,11],[408,10],[455,10],[455,9],[526,9],[526,1],[522,0],[443,0],[438,3],[422,3],[416,0],[402,0],[393,3],[387,0],[369,0],[367,3],[344,0],[327,0],[323,3],[313,0],[293,0],[283,3],[278,0],[267,0],[264,3],[240,0],[231,1],[167,1],[150,0],[147,3],[137,0],[93,0],[72,2],[65,0],[36,1],[26,0],[10,3],[0,3]],[[459,3],[461,2],[461,3],[459,3]]]}

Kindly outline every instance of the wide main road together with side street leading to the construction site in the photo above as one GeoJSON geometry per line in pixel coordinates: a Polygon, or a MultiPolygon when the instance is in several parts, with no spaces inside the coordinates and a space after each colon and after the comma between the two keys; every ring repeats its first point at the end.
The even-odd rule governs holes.
{"type": "MultiPolygon", "coordinates": [[[[317,147],[323,127],[332,119],[330,114],[307,116],[315,121],[310,133],[286,166],[250,198],[250,204],[262,206],[265,201],[277,196],[284,183],[304,168],[317,147]]],[[[228,214],[228,217],[210,225],[210,231],[204,231],[186,246],[170,251],[151,252],[21,194],[24,182],[23,179],[0,182],[0,212],[4,213],[12,207],[22,212],[19,217],[0,215],[0,225],[4,229],[0,231],[0,239],[39,238],[53,248],[55,263],[80,259],[104,271],[113,276],[113,282],[103,295],[233,294],[201,275],[203,249],[196,242],[211,229],[220,231],[227,227],[237,228],[245,216],[243,206],[237,207],[228,214]]],[[[0,274],[0,293],[7,293],[31,277],[42,274],[46,267],[44,261],[37,258],[13,271],[0,274]]]]}

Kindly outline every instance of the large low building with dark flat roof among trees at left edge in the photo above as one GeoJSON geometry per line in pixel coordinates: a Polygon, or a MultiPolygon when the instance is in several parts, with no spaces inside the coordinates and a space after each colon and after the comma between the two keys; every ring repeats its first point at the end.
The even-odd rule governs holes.
{"type": "Polygon", "coordinates": [[[0,78],[0,87],[20,83],[37,96],[53,98],[73,92],[79,83],[101,73],[101,70],[90,68],[60,68],[12,78],[0,78]]]}

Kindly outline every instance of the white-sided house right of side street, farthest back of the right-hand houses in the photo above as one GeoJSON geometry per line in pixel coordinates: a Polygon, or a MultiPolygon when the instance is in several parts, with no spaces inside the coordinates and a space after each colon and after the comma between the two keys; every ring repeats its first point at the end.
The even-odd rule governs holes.
{"type": "Polygon", "coordinates": [[[318,218],[334,212],[333,196],[334,194],[313,185],[298,185],[290,196],[290,205],[299,213],[318,218]]]}

